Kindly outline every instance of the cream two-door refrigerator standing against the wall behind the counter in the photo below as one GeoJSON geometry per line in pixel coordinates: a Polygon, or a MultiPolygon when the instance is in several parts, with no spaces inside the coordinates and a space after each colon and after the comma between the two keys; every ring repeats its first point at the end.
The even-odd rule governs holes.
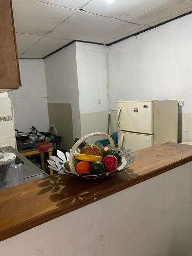
{"type": "Polygon", "coordinates": [[[118,146],[133,151],[177,142],[178,100],[117,102],[118,146]]]}

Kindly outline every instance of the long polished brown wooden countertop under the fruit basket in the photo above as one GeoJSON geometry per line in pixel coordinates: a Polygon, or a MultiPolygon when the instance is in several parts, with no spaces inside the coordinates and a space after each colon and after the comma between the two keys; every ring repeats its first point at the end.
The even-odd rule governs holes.
{"type": "Polygon", "coordinates": [[[55,175],[0,190],[0,241],[192,160],[192,146],[165,143],[138,151],[122,173],[100,180],[55,175]]]}

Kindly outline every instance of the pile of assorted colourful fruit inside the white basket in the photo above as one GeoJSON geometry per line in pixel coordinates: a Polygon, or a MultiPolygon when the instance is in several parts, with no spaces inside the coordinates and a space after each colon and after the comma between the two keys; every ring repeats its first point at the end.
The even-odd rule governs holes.
{"type": "MultiPolygon", "coordinates": [[[[78,139],[75,138],[74,142],[78,139]]],[[[109,150],[108,147],[99,148],[93,144],[82,142],[78,147],[80,153],[74,155],[74,166],[78,174],[90,173],[91,175],[112,172],[117,169],[118,163],[121,162],[120,152],[109,150]]],[[[69,162],[65,163],[65,168],[70,170],[69,162]]]]}

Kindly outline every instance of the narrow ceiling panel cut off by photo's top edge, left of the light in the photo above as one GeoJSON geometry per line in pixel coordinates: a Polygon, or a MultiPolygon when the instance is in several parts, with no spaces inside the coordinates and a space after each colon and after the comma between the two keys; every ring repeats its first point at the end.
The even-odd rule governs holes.
{"type": "Polygon", "coordinates": [[[89,0],[42,0],[42,2],[67,8],[79,9],[83,5],[87,4],[89,0]]]}

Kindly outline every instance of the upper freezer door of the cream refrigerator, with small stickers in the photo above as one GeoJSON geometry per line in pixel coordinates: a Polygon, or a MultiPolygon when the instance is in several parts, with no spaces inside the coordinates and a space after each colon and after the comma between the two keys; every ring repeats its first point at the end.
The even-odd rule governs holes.
{"type": "Polygon", "coordinates": [[[154,101],[118,102],[119,130],[135,133],[154,133],[154,101]]]}

